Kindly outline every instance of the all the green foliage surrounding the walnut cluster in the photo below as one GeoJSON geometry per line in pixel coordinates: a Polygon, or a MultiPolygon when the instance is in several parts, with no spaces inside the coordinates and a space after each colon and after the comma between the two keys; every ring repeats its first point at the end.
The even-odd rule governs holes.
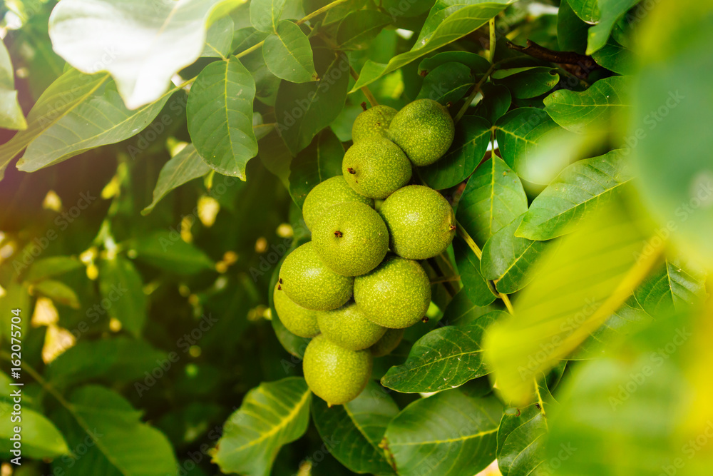
{"type": "Polygon", "coordinates": [[[16,475],[708,475],[711,6],[4,1],[0,457],[19,308],[16,475]],[[459,236],[327,408],[269,290],[361,103],[416,98],[459,236]]]}

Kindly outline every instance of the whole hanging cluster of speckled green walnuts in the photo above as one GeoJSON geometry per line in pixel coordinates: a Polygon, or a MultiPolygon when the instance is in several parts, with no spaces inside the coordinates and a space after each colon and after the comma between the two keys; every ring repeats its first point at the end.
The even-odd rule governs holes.
{"type": "Polygon", "coordinates": [[[273,298],[284,326],[313,338],[304,378],[329,405],[359,395],[372,358],[426,315],[431,283],[418,260],[448,248],[456,218],[440,193],[409,182],[412,164],[441,158],[453,131],[448,110],[430,99],[398,112],[374,106],[354,121],[343,176],[304,200],[312,241],[284,259],[273,298]]]}

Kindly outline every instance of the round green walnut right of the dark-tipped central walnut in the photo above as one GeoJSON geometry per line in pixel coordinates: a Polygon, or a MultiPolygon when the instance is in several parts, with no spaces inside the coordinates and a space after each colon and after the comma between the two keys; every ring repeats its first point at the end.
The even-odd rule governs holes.
{"type": "Polygon", "coordinates": [[[391,251],[411,260],[440,255],[456,236],[453,207],[433,188],[411,185],[386,198],[381,218],[391,237],[391,251]]]}

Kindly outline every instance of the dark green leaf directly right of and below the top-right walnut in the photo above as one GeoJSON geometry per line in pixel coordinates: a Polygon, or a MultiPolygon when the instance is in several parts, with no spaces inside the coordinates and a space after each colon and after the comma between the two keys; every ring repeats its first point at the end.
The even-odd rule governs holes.
{"type": "Polygon", "coordinates": [[[463,116],[456,124],[456,136],[448,152],[430,166],[416,169],[417,173],[436,190],[458,185],[471,176],[483,160],[490,136],[488,121],[477,116],[463,116]]]}

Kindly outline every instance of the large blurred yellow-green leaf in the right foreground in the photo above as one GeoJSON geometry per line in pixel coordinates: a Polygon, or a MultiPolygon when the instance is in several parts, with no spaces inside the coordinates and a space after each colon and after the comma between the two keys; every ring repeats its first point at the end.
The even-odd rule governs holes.
{"type": "Polygon", "coordinates": [[[644,278],[657,255],[637,260],[641,221],[612,202],[581,223],[545,255],[515,301],[517,317],[488,329],[483,348],[506,398],[522,402],[533,376],[570,355],[644,278]]]}

